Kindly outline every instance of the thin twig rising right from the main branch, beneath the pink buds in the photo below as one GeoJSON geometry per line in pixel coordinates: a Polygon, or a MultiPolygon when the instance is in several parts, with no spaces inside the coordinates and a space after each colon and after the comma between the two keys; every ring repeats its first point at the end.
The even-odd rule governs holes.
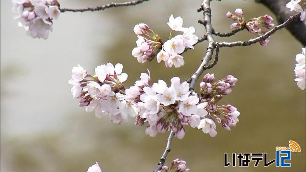
{"type": "Polygon", "coordinates": [[[251,45],[251,44],[263,41],[263,40],[269,38],[276,31],[280,30],[283,27],[288,26],[291,22],[293,22],[294,20],[298,19],[299,16],[300,16],[300,14],[298,13],[298,14],[295,14],[294,16],[289,17],[284,23],[275,26],[269,32],[265,33],[264,35],[262,35],[260,37],[257,37],[257,38],[254,38],[254,39],[250,39],[248,41],[221,42],[221,43],[219,43],[219,46],[220,47],[248,46],[248,45],[251,45]]]}

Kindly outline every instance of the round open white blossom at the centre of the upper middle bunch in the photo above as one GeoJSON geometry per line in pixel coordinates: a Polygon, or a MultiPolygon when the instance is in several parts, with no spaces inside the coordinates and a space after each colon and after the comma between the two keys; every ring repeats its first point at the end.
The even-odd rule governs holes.
{"type": "Polygon", "coordinates": [[[171,55],[180,54],[185,49],[183,40],[175,37],[166,41],[163,46],[164,50],[171,55]]]}

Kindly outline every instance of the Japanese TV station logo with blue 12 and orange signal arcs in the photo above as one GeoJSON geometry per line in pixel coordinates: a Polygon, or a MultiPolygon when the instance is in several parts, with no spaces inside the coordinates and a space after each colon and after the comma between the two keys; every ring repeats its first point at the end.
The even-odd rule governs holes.
{"type": "Polygon", "coordinates": [[[254,167],[257,167],[261,161],[264,167],[273,163],[275,163],[276,167],[291,167],[291,153],[297,152],[301,152],[301,147],[297,142],[290,140],[289,147],[275,147],[275,159],[270,160],[268,159],[268,153],[232,153],[232,161],[228,162],[230,157],[228,157],[227,153],[224,153],[224,167],[248,167],[251,161],[253,161],[254,167]]]}

